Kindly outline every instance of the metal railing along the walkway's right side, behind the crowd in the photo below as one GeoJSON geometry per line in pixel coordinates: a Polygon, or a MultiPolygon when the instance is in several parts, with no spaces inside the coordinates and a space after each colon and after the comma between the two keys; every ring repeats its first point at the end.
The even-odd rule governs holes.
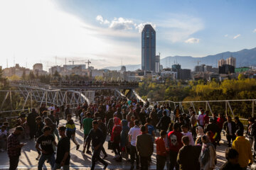
{"type": "MultiPolygon", "coordinates": [[[[255,104],[256,104],[256,99],[241,99],[241,100],[220,100],[220,101],[153,101],[151,102],[151,105],[165,105],[165,104],[169,104],[169,106],[173,105],[174,108],[176,108],[176,106],[178,106],[181,111],[183,113],[185,113],[185,106],[187,107],[192,107],[193,108],[193,111],[196,112],[196,105],[197,106],[201,106],[203,107],[205,110],[208,110],[210,111],[210,113],[213,115],[213,109],[212,109],[212,106],[213,104],[215,104],[215,110],[218,111],[218,113],[221,113],[223,112],[223,108],[225,108],[224,112],[225,115],[228,115],[228,113],[231,113],[233,115],[233,118],[235,118],[235,109],[237,108],[234,108],[232,106],[232,103],[247,103],[247,106],[248,105],[251,105],[251,115],[252,117],[255,116],[255,104]],[[217,103],[217,106],[216,106],[216,103],[217,103]]],[[[199,108],[199,107],[198,107],[199,108]]],[[[242,108],[242,105],[240,105],[240,108],[242,108]]]]}

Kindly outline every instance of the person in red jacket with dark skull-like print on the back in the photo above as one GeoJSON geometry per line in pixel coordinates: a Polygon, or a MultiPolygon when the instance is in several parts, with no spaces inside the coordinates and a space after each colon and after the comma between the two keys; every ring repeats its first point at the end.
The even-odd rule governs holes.
{"type": "Polygon", "coordinates": [[[183,147],[181,138],[182,133],[180,132],[180,126],[178,123],[174,123],[174,130],[169,132],[168,139],[169,139],[169,149],[170,149],[170,170],[178,169],[178,164],[176,162],[178,151],[183,147]]]}

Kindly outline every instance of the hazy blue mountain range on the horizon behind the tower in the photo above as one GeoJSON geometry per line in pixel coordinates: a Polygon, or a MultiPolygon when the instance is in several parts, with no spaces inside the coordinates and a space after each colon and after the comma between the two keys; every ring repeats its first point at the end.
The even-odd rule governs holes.
{"type": "MultiPolygon", "coordinates": [[[[194,69],[198,64],[197,61],[201,61],[199,64],[211,65],[213,67],[218,67],[218,60],[223,58],[224,60],[228,57],[233,56],[236,58],[237,67],[247,67],[256,65],[256,47],[250,50],[244,49],[238,52],[222,52],[217,55],[208,55],[206,57],[191,57],[191,56],[168,56],[160,60],[160,64],[164,68],[171,67],[174,61],[181,64],[182,69],[194,69]]],[[[134,71],[136,69],[142,69],[141,64],[129,64],[126,65],[127,70],[134,71]]],[[[120,70],[121,66],[118,67],[105,67],[105,69],[110,70],[120,70]]]]}

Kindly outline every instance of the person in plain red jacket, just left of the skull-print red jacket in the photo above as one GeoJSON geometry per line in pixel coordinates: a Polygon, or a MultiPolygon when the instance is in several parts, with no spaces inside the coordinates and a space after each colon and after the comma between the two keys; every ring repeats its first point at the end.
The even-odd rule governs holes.
{"type": "Polygon", "coordinates": [[[164,165],[166,164],[166,154],[167,154],[164,138],[166,137],[167,133],[166,131],[161,130],[160,135],[161,137],[158,137],[156,139],[156,169],[164,170],[164,165]]]}

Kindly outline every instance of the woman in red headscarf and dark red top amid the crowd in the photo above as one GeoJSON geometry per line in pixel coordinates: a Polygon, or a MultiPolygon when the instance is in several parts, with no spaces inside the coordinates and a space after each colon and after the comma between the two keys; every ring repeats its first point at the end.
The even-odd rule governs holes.
{"type": "Polygon", "coordinates": [[[117,162],[121,162],[122,161],[122,157],[121,157],[121,149],[120,149],[120,141],[121,141],[121,131],[122,131],[122,126],[121,124],[121,120],[117,117],[114,117],[113,119],[114,121],[114,127],[112,129],[112,134],[111,134],[111,139],[110,141],[113,142],[113,151],[114,151],[114,159],[116,159],[117,162]]]}

